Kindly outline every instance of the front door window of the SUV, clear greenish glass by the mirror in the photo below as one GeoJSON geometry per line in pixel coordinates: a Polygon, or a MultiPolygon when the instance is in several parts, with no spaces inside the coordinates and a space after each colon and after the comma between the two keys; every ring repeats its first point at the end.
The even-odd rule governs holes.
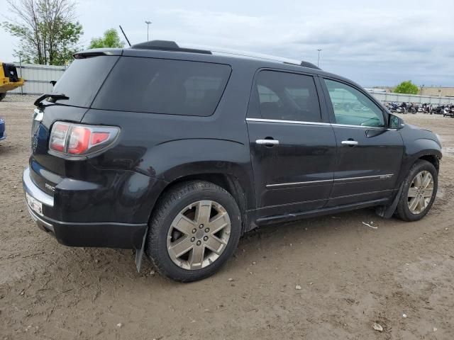
{"type": "Polygon", "coordinates": [[[384,127],[382,109],[352,86],[324,79],[333,105],[336,123],[384,127]]]}

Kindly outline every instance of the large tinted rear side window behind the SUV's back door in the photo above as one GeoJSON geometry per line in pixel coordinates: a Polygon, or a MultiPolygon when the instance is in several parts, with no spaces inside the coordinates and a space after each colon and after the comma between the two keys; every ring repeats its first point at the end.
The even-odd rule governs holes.
{"type": "Polygon", "coordinates": [[[92,108],[212,115],[230,74],[224,64],[121,57],[92,108]]]}

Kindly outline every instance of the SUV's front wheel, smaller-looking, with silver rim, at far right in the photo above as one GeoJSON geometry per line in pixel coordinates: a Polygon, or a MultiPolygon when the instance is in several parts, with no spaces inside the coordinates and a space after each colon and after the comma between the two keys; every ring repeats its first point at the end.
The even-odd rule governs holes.
{"type": "Polygon", "coordinates": [[[421,220],[431,209],[438,189],[438,172],[430,162],[420,160],[409,171],[397,205],[404,221],[421,220]]]}

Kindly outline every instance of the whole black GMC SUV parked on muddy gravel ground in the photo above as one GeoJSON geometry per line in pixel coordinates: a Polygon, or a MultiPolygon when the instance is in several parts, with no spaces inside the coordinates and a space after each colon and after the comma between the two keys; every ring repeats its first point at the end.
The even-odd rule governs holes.
{"type": "Polygon", "coordinates": [[[358,84],[153,41],[88,50],[35,101],[28,210],[68,246],[135,249],[206,278],[260,225],[376,206],[426,215],[441,142],[358,84]]]}

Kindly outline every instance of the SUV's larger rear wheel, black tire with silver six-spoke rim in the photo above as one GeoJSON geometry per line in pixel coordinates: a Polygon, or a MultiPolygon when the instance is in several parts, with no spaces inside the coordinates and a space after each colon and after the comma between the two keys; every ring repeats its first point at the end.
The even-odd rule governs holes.
{"type": "Polygon", "coordinates": [[[241,225],[240,209],[226,190],[206,181],[179,183],[157,203],[149,223],[145,251],[162,276],[179,282],[201,280],[216,273],[232,256],[238,246],[241,225]],[[210,217],[204,214],[208,211],[210,217]],[[204,225],[200,221],[209,222],[204,225]],[[221,225],[223,229],[214,233],[221,225]],[[177,256],[177,250],[170,250],[176,249],[177,244],[183,244],[179,252],[187,249],[188,244],[192,249],[177,256]],[[213,244],[220,246],[217,252],[209,248],[213,244]],[[196,261],[197,257],[202,261],[196,261]]]}

